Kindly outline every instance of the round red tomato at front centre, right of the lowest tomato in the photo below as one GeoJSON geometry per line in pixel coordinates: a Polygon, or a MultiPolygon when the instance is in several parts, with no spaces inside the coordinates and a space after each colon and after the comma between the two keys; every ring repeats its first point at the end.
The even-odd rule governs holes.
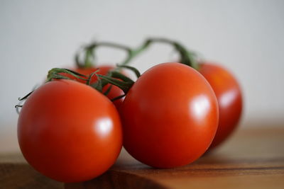
{"type": "Polygon", "coordinates": [[[211,86],[180,63],[148,69],[120,110],[125,149],[156,168],[184,166],[199,158],[211,144],[219,118],[211,86]]]}

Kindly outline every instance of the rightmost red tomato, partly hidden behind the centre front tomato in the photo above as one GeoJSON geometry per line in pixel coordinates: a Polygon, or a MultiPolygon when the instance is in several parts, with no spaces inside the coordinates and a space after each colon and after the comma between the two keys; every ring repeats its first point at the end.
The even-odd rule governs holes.
{"type": "Polygon", "coordinates": [[[219,126],[212,149],[229,137],[241,118],[241,89],[234,76],[216,64],[200,64],[199,71],[212,86],[219,103],[219,126]]]}

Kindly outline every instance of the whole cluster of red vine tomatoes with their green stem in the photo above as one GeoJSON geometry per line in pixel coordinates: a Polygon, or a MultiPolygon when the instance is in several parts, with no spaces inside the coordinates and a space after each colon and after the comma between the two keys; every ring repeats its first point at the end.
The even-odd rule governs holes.
{"type": "Polygon", "coordinates": [[[87,181],[114,164],[122,145],[143,164],[173,168],[229,136],[242,107],[234,76],[165,39],[146,40],[136,50],[124,47],[124,63],[151,42],[173,45],[180,63],[158,64],[142,75],[122,66],[136,72],[132,81],[121,67],[89,64],[97,43],[86,47],[83,66],[49,71],[48,82],[26,98],[18,118],[18,142],[33,168],[65,183],[87,181]]]}

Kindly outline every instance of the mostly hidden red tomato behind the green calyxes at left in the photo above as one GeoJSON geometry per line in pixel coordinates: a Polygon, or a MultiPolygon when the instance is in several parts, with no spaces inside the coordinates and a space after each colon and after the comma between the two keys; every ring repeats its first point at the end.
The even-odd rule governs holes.
{"type": "MultiPolygon", "coordinates": [[[[92,68],[77,68],[77,69],[72,69],[80,74],[84,74],[86,76],[89,76],[89,74],[92,74],[94,71],[96,71],[97,69],[99,69],[99,71],[97,72],[97,74],[102,74],[102,75],[107,75],[107,73],[111,70],[114,69],[114,67],[111,66],[102,66],[102,67],[92,67],[92,68]]],[[[82,79],[77,79],[75,76],[71,76],[69,74],[62,74],[65,76],[70,77],[71,79],[75,79],[76,81],[80,81],[80,83],[86,83],[86,81],[82,80],[82,79]]],[[[93,76],[92,77],[92,81],[90,82],[90,84],[93,84],[94,82],[97,81],[97,77],[93,76]]],[[[111,84],[107,84],[106,86],[104,86],[103,88],[103,92],[107,91],[107,89],[109,88],[111,84]]],[[[121,96],[124,95],[124,91],[122,91],[119,87],[112,85],[111,86],[111,90],[109,91],[109,93],[107,94],[107,97],[109,99],[113,99],[116,98],[117,96],[121,96]]],[[[124,101],[124,98],[119,98],[116,101],[113,101],[114,105],[116,106],[117,109],[119,109],[121,103],[124,101]]]]}

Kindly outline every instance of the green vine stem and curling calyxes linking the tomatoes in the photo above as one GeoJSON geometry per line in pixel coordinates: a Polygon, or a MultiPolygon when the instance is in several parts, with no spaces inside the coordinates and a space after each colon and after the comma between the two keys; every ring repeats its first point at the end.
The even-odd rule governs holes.
{"type": "MultiPolygon", "coordinates": [[[[140,77],[141,74],[139,73],[139,71],[133,67],[129,67],[127,64],[129,64],[135,57],[140,55],[142,52],[147,50],[148,47],[150,47],[153,43],[156,42],[172,45],[180,55],[180,60],[179,60],[180,63],[186,64],[197,70],[199,69],[197,54],[195,52],[187,50],[185,46],[181,45],[180,42],[177,42],[175,40],[169,40],[167,38],[148,38],[140,46],[136,48],[131,48],[126,45],[121,45],[112,42],[92,42],[91,44],[82,47],[82,49],[76,53],[75,62],[77,64],[77,67],[80,68],[94,67],[95,64],[97,63],[95,51],[97,50],[98,47],[112,47],[115,49],[124,50],[127,54],[126,58],[117,65],[116,69],[114,69],[113,71],[109,71],[109,74],[107,74],[106,76],[97,74],[98,70],[94,71],[89,76],[85,76],[70,69],[54,68],[48,71],[46,82],[52,81],[53,79],[70,79],[70,77],[62,75],[62,73],[65,73],[65,74],[70,74],[77,79],[81,79],[82,81],[85,82],[85,84],[92,86],[97,91],[102,92],[102,88],[104,86],[106,86],[107,84],[112,84],[114,86],[118,86],[119,88],[121,88],[126,94],[131,88],[131,86],[133,86],[134,81],[129,79],[129,77],[124,76],[124,74],[121,74],[119,70],[123,68],[130,69],[136,74],[137,77],[140,77]],[[97,76],[97,81],[91,84],[91,80],[94,75],[97,76]]],[[[109,86],[109,88],[107,88],[107,91],[104,92],[104,95],[107,95],[109,91],[111,91],[111,87],[112,86],[109,86]]],[[[33,91],[31,93],[33,93],[33,91]]],[[[25,100],[26,98],[28,98],[28,96],[31,95],[31,93],[28,93],[23,98],[18,98],[18,100],[19,101],[25,100]]],[[[113,100],[122,97],[123,96],[118,96],[113,100]]],[[[16,108],[21,108],[21,104],[16,105],[16,108]]]]}

